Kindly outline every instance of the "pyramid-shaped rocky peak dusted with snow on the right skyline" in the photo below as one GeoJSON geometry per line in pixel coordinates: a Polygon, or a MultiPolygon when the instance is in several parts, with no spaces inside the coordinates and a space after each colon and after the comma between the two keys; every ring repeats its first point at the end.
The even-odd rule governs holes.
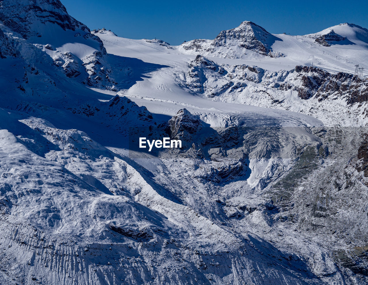
{"type": "Polygon", "coordinates": [[[272,51],[275,41],[281,39],[253,22],[244,21],[237,28],[221,31],[212,41],[195,39],[183,43],[181,48],[192,54],[212,53],[225,58],[242,58],[243,54],[247,54],[247,50],[265,56],[280,57],[281,53],[272,51]]]}

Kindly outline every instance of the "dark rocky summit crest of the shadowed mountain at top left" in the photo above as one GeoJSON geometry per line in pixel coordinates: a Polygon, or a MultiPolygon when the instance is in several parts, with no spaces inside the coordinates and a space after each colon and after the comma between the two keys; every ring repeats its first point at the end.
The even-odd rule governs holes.
{"type": "Polygon", "coordinates": [[[70,41],[106,53],[100,39],[71,17],[59,0],[3,0],[0,5],[3,24],[32,43],[59,47],[70,41]]]}

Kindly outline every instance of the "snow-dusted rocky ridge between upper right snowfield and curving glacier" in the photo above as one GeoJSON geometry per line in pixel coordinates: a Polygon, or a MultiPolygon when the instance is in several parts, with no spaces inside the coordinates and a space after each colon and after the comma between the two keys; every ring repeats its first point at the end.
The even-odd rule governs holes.
{"type": "Polygon", "coordinates": [[[287,107],[289,94],[296,94],[302,100],[339,99],[348,105],[358,104],[361,116],[367,114],[368,81],[349,73],[333,74],[311,66],[270,72],[257,66],[219,65],[198,55],[183,75],[185,81],[178,84],[214,100],[248,102],[242,101],[243,94],[248,100],[251,93],[254,99],[287,107]]]}

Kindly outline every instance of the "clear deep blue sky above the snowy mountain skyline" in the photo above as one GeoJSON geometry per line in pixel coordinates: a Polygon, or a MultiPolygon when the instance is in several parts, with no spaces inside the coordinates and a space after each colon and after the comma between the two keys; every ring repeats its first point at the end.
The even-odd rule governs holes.
{"type": "Polygon", "coordinates": [[[90,29],[111,29],[124,38],[158,38],[171,45],[213,39],[222,30],[252,21],[268,32],[304,35],[348,22],[368,28],[368,1],[125,1],[61,0],[90,29]]]}

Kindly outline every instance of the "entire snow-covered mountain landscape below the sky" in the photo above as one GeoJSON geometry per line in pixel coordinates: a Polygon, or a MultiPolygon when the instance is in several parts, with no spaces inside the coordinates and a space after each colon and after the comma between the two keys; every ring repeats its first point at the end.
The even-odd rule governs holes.
{"type": "Polygon", "coordinates": [[[367,29],[0,28],[1,284],[367,284],[367,29]]]}

